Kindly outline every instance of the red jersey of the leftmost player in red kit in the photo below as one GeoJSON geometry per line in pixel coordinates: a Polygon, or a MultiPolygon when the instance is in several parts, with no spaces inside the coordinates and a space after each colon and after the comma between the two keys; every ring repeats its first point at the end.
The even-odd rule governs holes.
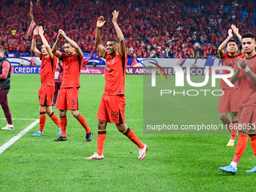
{"type": "Polygon", "coordinates": [[[41,85],[47,85],[50,87],[54,87],[54,73],[56,69],[57,58],[53,55],[53,59],[48,56],[45,58],[43,54],[41,54],[41,85]]]}

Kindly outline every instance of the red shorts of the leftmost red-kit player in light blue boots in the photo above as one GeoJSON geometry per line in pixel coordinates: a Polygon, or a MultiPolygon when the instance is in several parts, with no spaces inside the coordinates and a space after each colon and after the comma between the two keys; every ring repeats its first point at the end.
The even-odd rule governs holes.
{"type": "Polygon", "coordinates": [[[47,85],[42,85],[40,90],[38,90],[38,98],[40,105],[51,106],[53,103],[53,95],[54,95],[55,87],[50,87],[47,85]]]}

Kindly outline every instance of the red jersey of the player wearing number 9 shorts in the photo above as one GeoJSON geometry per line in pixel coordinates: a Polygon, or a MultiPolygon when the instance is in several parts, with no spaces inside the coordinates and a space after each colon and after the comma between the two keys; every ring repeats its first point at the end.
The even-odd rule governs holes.
{"type": "Polygon", "coordinates": [[[83,59],[84,55],[79,58],[76,53],[72,56],[62,53],[61,60],[64,73],[61,87],[80,87],[79,77],[83,59]]]}

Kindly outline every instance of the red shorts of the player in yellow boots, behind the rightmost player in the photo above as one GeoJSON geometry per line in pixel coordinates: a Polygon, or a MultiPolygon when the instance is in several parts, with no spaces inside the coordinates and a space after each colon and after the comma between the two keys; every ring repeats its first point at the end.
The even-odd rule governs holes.
{"type": "Polygon", "coordinates": [[[218,103],[218,111],[220,113],[237,112],[237,89],[222,89],[224,94],[218,103]]]}

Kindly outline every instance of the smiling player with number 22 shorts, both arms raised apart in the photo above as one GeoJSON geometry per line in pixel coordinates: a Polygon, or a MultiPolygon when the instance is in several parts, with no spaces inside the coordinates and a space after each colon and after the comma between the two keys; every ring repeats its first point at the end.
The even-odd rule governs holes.
{"type": "Polygon", "coordinates": [[[96,47],[103,57],[106,59],[105,66],[105,93],[99,104],[99,111],[97,114],[98,121],[98,138],[97,138],[97,152],[86,160],[103,160],[103,147],[106,137],[107,123],[115,123],[117,130],[127,136],[139,148],[139,160],[145,158],[148,146],[144,145],[136,134],[126,126],[124,107],[124,81],[126,75],[127,56],[125,51],[125,44],[123,33],[117,25],[118,11],[113,13],[113,25],[117,32],[117,39],[108,39],[106,49],[102,45],[100,38],[100,30],[104,26],[104,17],[99,17],[96,23],[96,47]]]}

